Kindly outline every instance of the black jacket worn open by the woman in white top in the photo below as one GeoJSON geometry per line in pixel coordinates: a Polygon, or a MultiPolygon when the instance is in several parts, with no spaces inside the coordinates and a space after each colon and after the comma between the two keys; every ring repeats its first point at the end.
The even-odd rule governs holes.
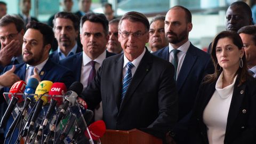
{"type": "MultiPolygon", "coordinates": [[[[256,143],[256,80],[250,76],[238,86],[238,79],[229,107],[224,143],[256,143]]],[[[191,143],[209,143],[203,111],[215,91],[216,82],[202,84],[199,88],[191,117],[191,143]]]]}

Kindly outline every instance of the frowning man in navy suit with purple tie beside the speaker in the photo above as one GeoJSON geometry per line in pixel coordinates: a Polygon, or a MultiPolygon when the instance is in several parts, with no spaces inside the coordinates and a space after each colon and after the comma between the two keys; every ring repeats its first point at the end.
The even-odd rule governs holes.
{"type": "MultiPolygon", "coordinates": [[[[85,88],[92,81],[102,61],[114,53],[106,51],[109,35],[108,20],[104,14],[86,13],[80,26],[83,52],[60,61],[60,64],[73,70],[75,80],[81,82],[85,88]]],[[[94,112],[95,120],[102,119],[101,107],[94,112]]]]}

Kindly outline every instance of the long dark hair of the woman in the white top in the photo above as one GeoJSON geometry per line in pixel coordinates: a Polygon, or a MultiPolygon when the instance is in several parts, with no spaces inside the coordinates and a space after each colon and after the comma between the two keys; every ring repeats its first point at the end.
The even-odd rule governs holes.
{"type": "MultiPolygon", "coordinates": [[[[232,42],[238,47],[238,50],[243,49],[242,39],[235,31],[222,31],[217,36],[215,36],[215,38],[213,39],[213,42],[212,42],[212,51],[211,51],[211,57],[213,60],[213,65],[215,67],[215,71],[214,71],[214,74],[205,76],[206,81],[204,83],[211,83],[211,82],[216,81],[223,70],[218,65],[218,60],[216,57],[216,46],[217,46],[219,39],[226,38],[226,37],[230,38],[232,40],[232,42]]],[[[243,61],[243,67],[242,68],[239,67],[238,70],[236,71],[236,74],[238,75],[237,78],[239,81],[238,86],[241,85],[243,82],[245,82],[247,75],[249,75],[248,71],[247,71],[247,63],[246,63],[245,54],[242,57],[242,61],[243,61]]],[[[236,76],[236,74],[235,74],[235,76],[236,76]]]]}

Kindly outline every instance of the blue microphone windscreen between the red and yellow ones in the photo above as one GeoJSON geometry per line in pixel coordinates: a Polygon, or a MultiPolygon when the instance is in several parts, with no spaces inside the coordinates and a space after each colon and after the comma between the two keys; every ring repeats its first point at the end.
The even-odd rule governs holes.
{"type": "Polygon", "coordinates": [[[39,84],[38,80],[34,77],[31,77],[28,79],[28,83],[26,85],[26,89],[25,89],[25,94],[27,95],[28,98],[32,98],[33,96],[28,95],[28,94],[35,94],[36,92],[36,87],[39,84]]]}

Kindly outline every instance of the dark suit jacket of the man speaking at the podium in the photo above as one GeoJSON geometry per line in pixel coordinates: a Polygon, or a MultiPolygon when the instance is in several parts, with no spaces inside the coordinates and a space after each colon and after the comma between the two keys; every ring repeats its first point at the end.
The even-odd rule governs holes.
{"type": "Polygon", "coordinates": [[[148,128],[157,137],[172,129],[178,118],[178,95],[171,63],[147,50],[120,102],[124,54],[105,59],[93,82],[82,92],[89,109],[102,100],[107,129],[148,128]]]}

